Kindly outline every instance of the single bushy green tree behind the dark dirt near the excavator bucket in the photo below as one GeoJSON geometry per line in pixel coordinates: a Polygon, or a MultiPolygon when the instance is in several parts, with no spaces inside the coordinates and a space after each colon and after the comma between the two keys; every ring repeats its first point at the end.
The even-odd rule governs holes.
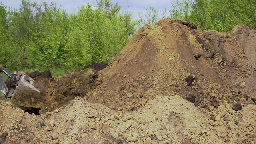
{"type": "Polygon", "coordinates": [[[48,6],[44,2],[43,9],[39,8],[34,15],[34,22],[36,27],[30,30],[30,65],[41,69],[46,67],[48,70],[61,66],[68,51],[66,44],[69,20],[65,10],[58,8],[56,3],[51,2],[48,6]]]}

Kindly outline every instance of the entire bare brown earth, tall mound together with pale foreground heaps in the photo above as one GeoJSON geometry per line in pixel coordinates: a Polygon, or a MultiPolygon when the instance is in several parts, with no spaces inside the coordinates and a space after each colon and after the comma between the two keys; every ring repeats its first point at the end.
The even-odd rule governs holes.
{"type": "Polygon", "coordinates": [[[97,88],[73,81],[81,73],[34,78],[61,94],[50,102],[65,106],[44,111],[53,112],[29,115],[0,100],[0,143],[256,143],[256,31],[247,26],[226,34],[161,20],[92,76],[97,88]],[[80,97],[68,104],[65,93],[80,97]]]}

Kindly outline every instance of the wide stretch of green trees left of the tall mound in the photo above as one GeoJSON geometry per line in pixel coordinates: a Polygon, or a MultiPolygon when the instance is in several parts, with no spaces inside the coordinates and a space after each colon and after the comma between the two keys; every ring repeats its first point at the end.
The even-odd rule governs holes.
{"type": "Polygon", "coordinates": [[[110,0],[67,14],[54,2],[0,3],[0,64],[8,70],[80,70],[120,51],[135,32],[130,12],[110,0]]]}

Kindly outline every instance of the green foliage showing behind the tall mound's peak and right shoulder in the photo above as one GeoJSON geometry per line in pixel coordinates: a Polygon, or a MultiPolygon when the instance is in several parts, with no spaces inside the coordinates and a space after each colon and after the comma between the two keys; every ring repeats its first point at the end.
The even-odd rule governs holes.
{"type": "MultiPolygon", "coordinates": [[[[147,19],[138,21],[140,26],[162,19],[153,8],[146,10],[147,19]],[[148,18],[156,19],[152,21],[148,18]]],[[[242,23],[256,29],[255,0],[174,0],[169,12],[170,16],[166,17],[192,22],[203,30],[229,32],[242,23]]]]}

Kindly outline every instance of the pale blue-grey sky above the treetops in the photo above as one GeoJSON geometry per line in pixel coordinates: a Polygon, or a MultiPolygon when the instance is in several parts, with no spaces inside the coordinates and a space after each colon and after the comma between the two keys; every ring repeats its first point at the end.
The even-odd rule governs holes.
{"type": "MultiPolygon", "coordinates": [[[[12,8],[20,8],[21,0],[0,0],[2,4],[7,7],[12,8]]],[[[71,13],[73,9],[78,9],[79,6],[86,3],[94,3],[96,4],[96,0],[30,0],[30,2],[37,2],[41,4],[42,2],[56,2],[57,5],[62,5],[68,13],[71,13]]],[[[173,0],[111,0],[112,4],[116,4],[116,2],[122,6],[122,10],[127,11],[129,7],[129,11],[132,12],[133,20],[138,20],[139,15],[138,12],[142,12],[142,14],[146,14],[146,8],[153,7],[155,10],[170,10],[171,2],[173,0]]]]}

